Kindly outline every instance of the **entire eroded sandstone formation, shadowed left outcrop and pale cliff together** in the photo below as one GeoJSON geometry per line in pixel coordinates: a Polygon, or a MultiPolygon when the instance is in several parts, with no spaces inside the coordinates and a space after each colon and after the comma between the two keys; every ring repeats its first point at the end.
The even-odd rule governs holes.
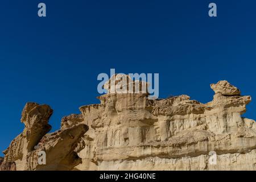
{"type": "MultiPolygon", "coordinates": [[[[106,85],[105,85],[106,86],[106,85]]],[[[4,151],[17,170],[256,170],[256,123],[241,117],[250,96],[227,81],[213,100],[148,100],[148,93],[109,93],[80,107],[47,134],[52,110],[28,103],[25,129],[4,151]],[[36,146],[36,147],[35,147],[36,146]],[[38,152],[46,152],[46,165],[38,152]],[[214,154],[209,155],[209,154],[214,154]],[[216,162],[212,163],[214,157],[216,162]]],[[[107,85],[109,88],[109,85],[107,85]]]]}

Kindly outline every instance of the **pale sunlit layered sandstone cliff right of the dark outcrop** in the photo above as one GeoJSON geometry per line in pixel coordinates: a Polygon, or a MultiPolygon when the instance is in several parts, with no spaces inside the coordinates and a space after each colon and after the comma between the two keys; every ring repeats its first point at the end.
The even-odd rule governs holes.
{"type": "Polygon", "coordinates": [[[85,170],[255,170],[256,124],[242,118],[250,96],[220,81],[207,104],[177,96],[105,94],[101,104],[80,107],[85,170]],[[209,152],[216,152],[216,165],[209,152]]]}

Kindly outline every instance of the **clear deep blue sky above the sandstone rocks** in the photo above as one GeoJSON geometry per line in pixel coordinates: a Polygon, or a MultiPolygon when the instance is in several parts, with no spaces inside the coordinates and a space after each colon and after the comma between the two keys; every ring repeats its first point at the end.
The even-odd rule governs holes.
{"type": "Polygon", "coordinates": [[[57,130],[64,115],[98,103],[97,75],[110,68],[159,73],[161,98],[208,102],[209,84],[228,80],[253,97],[245,116],[256,119],[255,0],[3,0],[0,20],[0,151],[22,132],[26,102],[51,105],[57,130]]]}

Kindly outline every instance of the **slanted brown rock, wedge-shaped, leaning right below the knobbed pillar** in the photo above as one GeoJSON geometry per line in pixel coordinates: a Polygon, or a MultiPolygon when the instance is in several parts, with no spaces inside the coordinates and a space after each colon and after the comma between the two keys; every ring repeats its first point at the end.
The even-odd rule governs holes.
{"type": "Polygon", "coordinates": [[[29,170],[71,170],[81,163],[75,149],[88,126],[79,124],[65,130],[45,135],[36,150],[27,155],[29,170]],[[38,154],[46,151],[46,165],[38,164],[38,154]]]}

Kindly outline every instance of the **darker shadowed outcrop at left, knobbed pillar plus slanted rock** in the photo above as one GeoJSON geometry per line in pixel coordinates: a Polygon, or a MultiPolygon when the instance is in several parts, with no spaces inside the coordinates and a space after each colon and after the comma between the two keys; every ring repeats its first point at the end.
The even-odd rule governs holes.
{"type": "Polygon", "coordinates": [[[67,129],[47,134],[51,130],[48,120],[53,110],[48,105],[28,102],[22,111],[25,128],[3,151],[2,170],[71,170],[81,162],[75,149],[88,126],[79,123],[67,129]],[[46,154],[46,164],[39,165],[41,151],[46,154]]]}

